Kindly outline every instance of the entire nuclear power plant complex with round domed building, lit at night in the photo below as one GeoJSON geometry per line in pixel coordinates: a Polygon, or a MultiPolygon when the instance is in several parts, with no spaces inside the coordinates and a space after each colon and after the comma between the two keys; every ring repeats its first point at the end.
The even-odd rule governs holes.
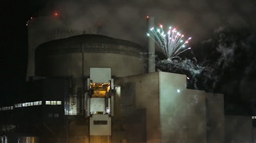
{"type": "Polygon", "coordinates": [[[225,117],[223,94],[156,72],[152,40],[142,47],[53,15],[28,21],[28,46],[27,82],[0,107],[1,143],[225,142],[236,128],[227,121],[246,126],[236,142],[252,141],[252,118],[225,117]]]}

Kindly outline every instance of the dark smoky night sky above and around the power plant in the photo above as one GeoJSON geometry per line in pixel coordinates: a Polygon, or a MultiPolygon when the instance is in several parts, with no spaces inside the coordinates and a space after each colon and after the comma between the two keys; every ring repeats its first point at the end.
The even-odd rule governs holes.
{"type": "MultiPolygon", "coordinates": [[[[197,55],[196,52],[200,53],[198,56],[202,56],[202,52],[211,54],[212,49],[201,50],[205,47],[199,45],[202,41],[209,40],[212,33],[220,29],[221,26],[232,27],[232,29],[244,28],[249,34],[255,33],[256,30],[256,1],[254,0],[97,0],[93,2],[87,0],[77,0],[76,2],[71,0],[3,0],[0,6],[2,17],[0,105],[12,100],[11,94],[14,87],[26,79],[28,56],[26,22],[30,17],[51,15],[58,11],[63,19],[70,20],[70,24],[75,24],[76,27],[100,24],[102,26],[100,34],[134,41],[145,46],[145,16],[151,15],[155,17],[156,25],[175,26],[185,36],[192,36],[191,45],[195,49],[195,55],[197,55]]],[[[253,47],[250,48],[246,53],[250,53],[250,50],[253,49],[253,47]]],[[[222,53],[224,52],[222,51],[222,53]]],[[[255,53],[255,50],[251,53],[255,53]]],[[[237,55],[237,50],[235,54],[237,55]]],[[[237,57],[227,56],[227,53],[223,56],[226,56],[227,61],[237,57]]],[[[243,62],[246,63],[231,64],[232,67],[228,69],[232,70],[229,70],[230,74],[225,73],[226,79],[224,78],[222,82],[227,80],[223,84],[227,89],[229,88],[225,91],[227,94],[232,95],[234,94],[232,91],[235,91],[232,88],[239,88],[239,96],[243,96],[241,89],[244,89],[246,90],[244,94],[250,94],[252,97],[256,93],[256,78],[252,76],[250,82],[247,82],[246,78],[248,79],[248,77],[244,79],[243,75],[256,73],[256,60],[253,59],[253,56],[248,56],[252,59],[248,59],[246,54],[242,56],[243,62]],[[243,81],[231,80],[236,79],[234,77],[237,76],[234,74],[236,72],[241,73],[239,79],[243,81]],[[237,85],[230,86],[230,84],[234,84],[232,81],[237,82],[237,85]]],[[[204,60],[200,57],[198,59],[204,60]]],[[[252,102],[252,98],[248,102],[252,102]]]]}

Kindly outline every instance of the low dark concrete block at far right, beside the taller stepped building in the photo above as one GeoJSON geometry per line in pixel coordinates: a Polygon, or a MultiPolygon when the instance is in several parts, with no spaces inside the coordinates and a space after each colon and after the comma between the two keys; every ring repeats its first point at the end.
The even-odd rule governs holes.
{"type": "Polygon", "coordinates": [[[251,116],[225,116],[225,143],[252,142],[251,116]]]}

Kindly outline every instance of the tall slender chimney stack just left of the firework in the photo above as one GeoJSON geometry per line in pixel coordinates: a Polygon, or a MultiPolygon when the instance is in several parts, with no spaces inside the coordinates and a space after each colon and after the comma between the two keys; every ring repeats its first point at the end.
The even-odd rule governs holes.
{"type": "MultiPolygon", "coordinates": [[[[148,33],[150,33],[150,28],[155,26],[154,17],[147,16],[148,23],[148,33]]],[[[148,38],[148,73],[156,72],[156,56],[155,56],[155,36],[152,35],[148,38]]]]}

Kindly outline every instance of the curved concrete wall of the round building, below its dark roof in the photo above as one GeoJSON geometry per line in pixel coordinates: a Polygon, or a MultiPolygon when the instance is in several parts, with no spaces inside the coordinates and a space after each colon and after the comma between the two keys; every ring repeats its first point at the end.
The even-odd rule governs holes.
{"type": "Polygon", "coordinates": [[[72,76],[82,85],[82,75],[89,77],[91,67],[111,68],[111,75],[126,77],[145,73],[140,57],[108,53],[67,53],[45,56],[36,61],[35,75],[51,77],[72,76]]]}

